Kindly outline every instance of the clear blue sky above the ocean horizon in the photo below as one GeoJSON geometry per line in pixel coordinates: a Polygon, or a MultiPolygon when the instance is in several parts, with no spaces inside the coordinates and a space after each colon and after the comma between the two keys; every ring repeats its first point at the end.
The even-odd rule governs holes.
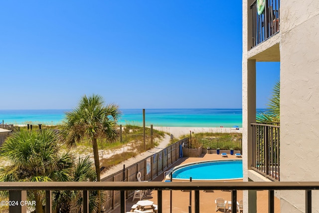
{"type": "MultiPolygon", "coordinates": [[[[0,109],[241,108],[242,5],[215,0],[0,4],[0,109]]],[[[257,64],[257,107],[279,63],[257,64]]]]}

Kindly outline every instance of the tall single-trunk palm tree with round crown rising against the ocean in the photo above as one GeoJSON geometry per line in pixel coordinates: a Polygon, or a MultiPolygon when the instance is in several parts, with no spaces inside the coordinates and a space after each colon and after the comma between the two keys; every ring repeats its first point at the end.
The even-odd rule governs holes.
{"type": "MultiPolygon", "coordinates": [[[[62,138],[69,146],[75,146],[81,139],[90,139],[98,182],[101,181],[101,176],[97,139],[106,138],[109,142],[115,141],[119,136],[117,120],[121,115],[116,104],[104,106],[104,103],[100,95],[93,94],[89,97],[84,95],[73,111],[65,113],[66,121],[62,129],[62,138]]],[[[98,211],[100,206],[99,200],[98,211]]]]}

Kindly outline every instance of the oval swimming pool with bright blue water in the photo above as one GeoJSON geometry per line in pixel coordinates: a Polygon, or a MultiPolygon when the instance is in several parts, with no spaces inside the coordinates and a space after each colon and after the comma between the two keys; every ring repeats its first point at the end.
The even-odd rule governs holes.
{"type": "MultiPolygon", "coordinates": [[[[175,167],[171,170],[173,180],[221,181],[243,179],[242,160],[201,161],[175,167]]],[[[170,178],[170,176],[166,177],[170,178]]]]}

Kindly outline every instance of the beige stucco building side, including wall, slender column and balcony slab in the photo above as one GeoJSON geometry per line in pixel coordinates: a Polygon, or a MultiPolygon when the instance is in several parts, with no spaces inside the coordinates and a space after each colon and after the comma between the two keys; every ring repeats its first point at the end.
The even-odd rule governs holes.
{"type": "MultiPolygon", "coordinates": [[[[281,0],[280,33],[253,49],[249,47],[251,23],[247,18],[251,2],[243,0],[244,181],[254,179],[248,172],[250,159],[245,156],[250,154],[249,123],[254,113],[254,85],[250,82],[255,75],[254,60],[277,59],[281,62],[281,181],[319,181],[319,0],[281,0]],[[277,59],[268,57],[271,50],[280,50],[277,59]]],[[[279,194],[282,212],[305,212],[305,192],[279,194]]],[[[244,193],[246,201],[248,197],[244,193]]],[[[313,191],[312,201],[312,211],[319,212],[317,191],[313,191]]],[[[248,205],[244,209],[247,211],[248,205]]]]}

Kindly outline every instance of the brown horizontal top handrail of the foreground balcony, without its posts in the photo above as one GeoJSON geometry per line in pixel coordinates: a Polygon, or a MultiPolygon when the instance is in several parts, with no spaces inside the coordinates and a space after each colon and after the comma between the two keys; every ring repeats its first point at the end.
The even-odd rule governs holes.
{"type": "Polygon", "coordinates": [[[3,190],[319,190],[308,182],[0,182],[3,190]]]}

